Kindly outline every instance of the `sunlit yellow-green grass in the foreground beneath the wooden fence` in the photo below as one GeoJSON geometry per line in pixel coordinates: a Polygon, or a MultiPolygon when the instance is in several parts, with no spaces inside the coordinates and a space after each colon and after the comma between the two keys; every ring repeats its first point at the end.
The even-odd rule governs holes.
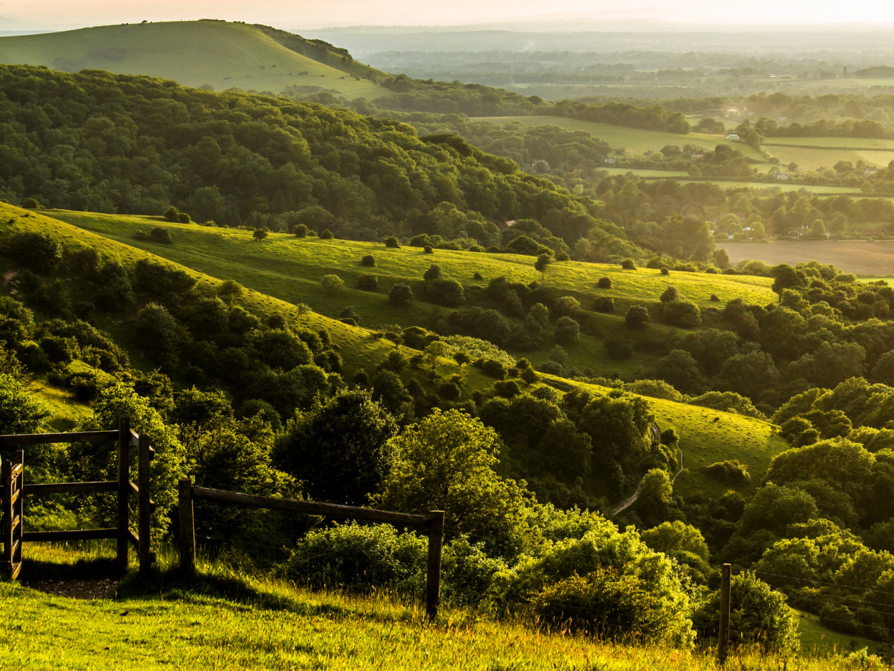
{"type": "MultiPolygon", "coordinates": [[[[26,546],[37,569],[82,573],[113,556],[108,543],[26,546]],[[89,563],[85,559],[90,559],[89,563]]],[[[131,573],[117,599],[49,596],[0,583],[0,650],[11,668],[462,668],[569,671],[716,669],[713,650],[670,650],[549,629],[524,618],[444,608],[430,622],[421,603],[380,592],[309,590],[245,566],[239,556],[198,558],[192,580],[160,548],[158,571],[131,573]]],[[[30,575],[26,580],[40,576],[30,575]]],[[[2,666],[2,665],[0,665],[2,666]]],[[[736,650],[737,671],[864,668],[842,656],[780,657],[736,650]]],[[[874,668],[881,668],[878,662],[874,668]]]]}

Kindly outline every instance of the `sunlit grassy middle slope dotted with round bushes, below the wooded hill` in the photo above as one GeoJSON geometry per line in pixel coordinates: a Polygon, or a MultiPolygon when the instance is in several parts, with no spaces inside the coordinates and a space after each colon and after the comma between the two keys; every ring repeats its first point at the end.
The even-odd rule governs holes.
{"type": "MultiPolygon", "coordinates": [[[[540,273],[534,268],[534,257],[518,254],[476,254],[445,250],[426,254],[420,248],[390,250],[373,242],[318,238],[299,240],[287,234],[272,234],[264,242],[257,243],[252,240],[249,231],[169,225],[166,222],[164,226],[172,230],[176,241],[171,246],[159,246],[152,242],[134,240],[133,235],[140,229],[148,230],[158,225],[160,217],[128,217],[62,210],[47,210],[47,214],[209,275],[235,279],[268,296],[292,303],[308,303],[313,310],[332,318],[338,318],[342,308],[351,305],[358,310],[363,319],[362,324],[366,326],[393,323],[402,326],[430,325],[433,304],[416,301],[408,308],[395,308],[389,304],[387,298],[392,285],[397,282],[414,285],[414,292],[417,297],[420,296],[422,275],[431,263],[437,263],[444,272],[467,286],[486,285],[497,276],[506,276],[512,282],[526,284],[541,279],[540,273]],[[367,254],[375,257],[375,268],[360,265],[360,259],[367,254]],[[476,272],[485,279],[475,280],[473,276],[476,272]],[[345,287],[329,295],[320,288],[319,280],[320,277],[333,273],[342,277],[345,287]],[[369,273],[379,277],[378,292],[370,293],[356,288],[358,276],[369,273]]],[[[553,263],[547,270],[545,283],[557,296],[574,295],[585,309],[592,307],[596,295],[614,297],[615,315],[590,315],[590,319],[598,323],[600,335],[603,336],[624,328],[622,317],[629,305],[656,302],[669,284],[677,286],[681,293],[702,307],[717,304],[710,300],[713,293],[723,302],[736,297],[759,304],[774,300],[770,280],[762,277],[675,273],[669,279],[653,269],[628,271],[619,266],[577,261],[553,263]],[[596,287],[596,282],[603,276],[611,278],[611,290],[596,287]]],[[[517,353],[532,361],[543,361],[548,351],[549,347],[541,352],[517,353]]],[[[604,352],[602,341],[587,336],[581,339],[578,347],[569,347],[568,351],[572,365],[581,369],[592,368],[606,375],[614,370],[632,373],[639,366],[651,362],[647,355],[641,353],[637,353],[629,361],[611,361],[604,352]]]]}

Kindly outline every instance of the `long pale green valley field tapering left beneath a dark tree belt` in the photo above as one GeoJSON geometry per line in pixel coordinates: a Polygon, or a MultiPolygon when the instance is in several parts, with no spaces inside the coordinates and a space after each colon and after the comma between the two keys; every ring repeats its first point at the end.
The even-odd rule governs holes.
{"type": "Polygon", "coordinates": [[[482,116],[476,117],[475,120],[502,124],[518,122],[526,126],[555,125],[567,128],[569,131],[586,131],[601,140],[605,140],[615,149],[623,148],[627,149],[628,152],[636,154],[640,154],[647,149],[657,151],[668,144],[675,144],[679,147],[682,147],[684,144],[692,144],[699,149],[714,149],[717,145],[722,144],[738,149],[743,156],[763,161],[763,157],[756,149],[746,145],[744,142],[726,140],[722,135],[707,135],[698,132],[679,135],[673,132],[644,131],[638,128],[615,126],[611,125],[611,123],[594,123],[569,119],[564,116],[482,116]]]}

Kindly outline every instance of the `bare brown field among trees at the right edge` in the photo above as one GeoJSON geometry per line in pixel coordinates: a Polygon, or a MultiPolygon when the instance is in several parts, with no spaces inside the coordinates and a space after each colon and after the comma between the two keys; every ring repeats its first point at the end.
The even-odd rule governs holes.
{"type": "Polygon", "coordinates": [[[718,242],[718,248],[738,263],[758,259],[770,264],[820,261],[855,275],[894,275],[894,241],[838,242],[828,240],[774,240],[771,242],[718,242]]]}

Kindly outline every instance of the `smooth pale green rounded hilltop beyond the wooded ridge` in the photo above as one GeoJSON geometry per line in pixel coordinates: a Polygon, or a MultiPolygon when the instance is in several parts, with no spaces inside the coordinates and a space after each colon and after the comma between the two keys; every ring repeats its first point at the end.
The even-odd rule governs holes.
{"type": "MultiPolygon", "coordinates": [[[[378,84],[285,47],[262,27],[225,21],[101,26],[0,38],[0,63],[148,74],[185,86],[209,84],[218,91],[239,87],[278,94],[294,85],[319,87],[345,98],[387,93],[378,84]]],[[[344,68],[351,66],[353,62],[344,68]]]]}

